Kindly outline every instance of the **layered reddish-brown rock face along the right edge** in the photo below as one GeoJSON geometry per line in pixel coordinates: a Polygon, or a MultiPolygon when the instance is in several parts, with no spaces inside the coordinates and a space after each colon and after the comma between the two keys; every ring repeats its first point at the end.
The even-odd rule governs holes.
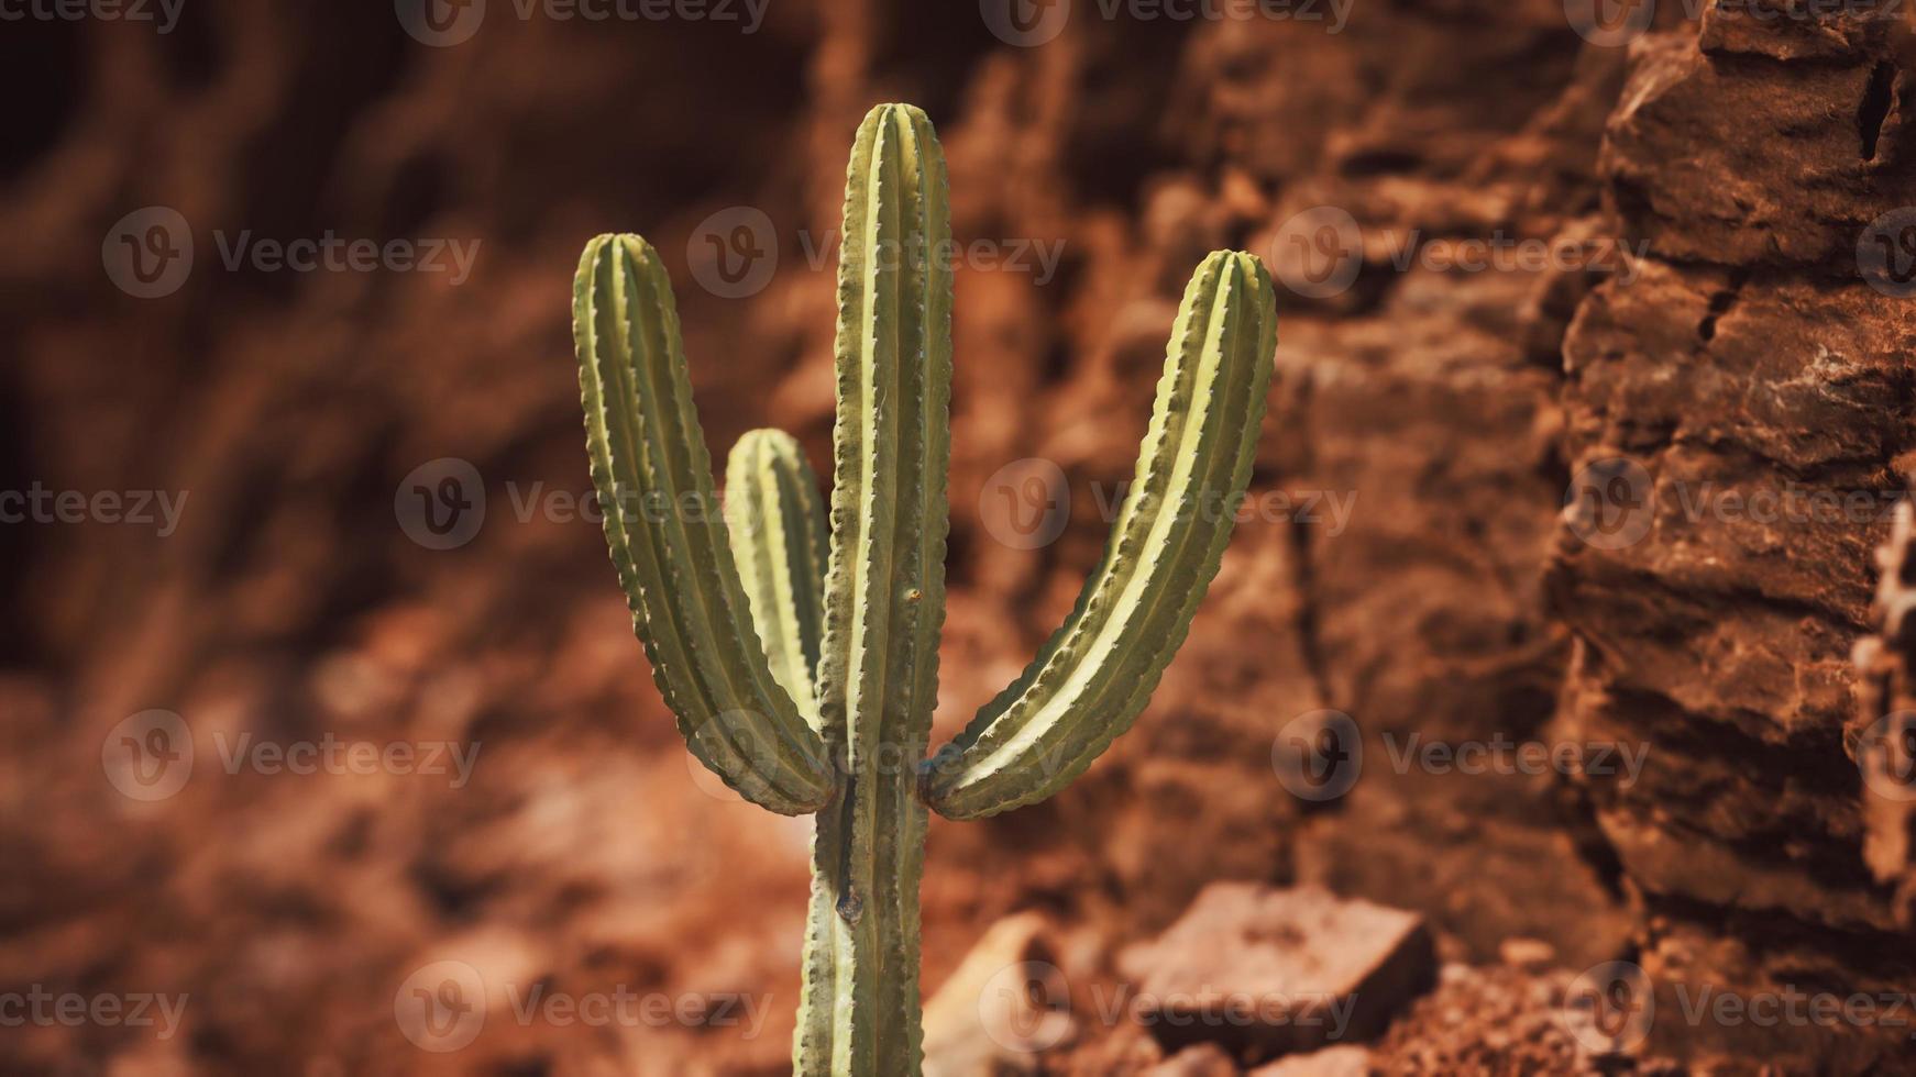
{"type": "Polygon", "coordinates": [[[1646,748],[1638,780],[1581,784],[1638,907],[1652,1043],[1887,1064],[1905,1035],[1878,1022],[1665,1018],[1916,972],[1843,744],[1912,444],[1916,312],[1859,279],[1916,193],[1908,27],[1719,8],[1631,50],[1606,124],[1606,201],[1646,258],[1563,341],[1560,729],[1646,748]]]}

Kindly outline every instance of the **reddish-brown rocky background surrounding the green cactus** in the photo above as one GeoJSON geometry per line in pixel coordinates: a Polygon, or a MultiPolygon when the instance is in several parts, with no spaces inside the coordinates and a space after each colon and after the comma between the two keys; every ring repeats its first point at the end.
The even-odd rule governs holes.
{"type": "Polygon", "coordinates": [[[1916,654],[1903,589],[1872,614],[1916,446],[1899,4],[56,8],[0,23],[0,490],[42,494],[0,503],[6,1073],[787,1069],[807,824],[651,689],[577,511],[569,281],[644,231],[713,451],[826,465],[885,99],[966,245],[941,733],[1094,566],[1190,268],[1288,285],[1152,706],[1056,800],[933,821],[937,1071],[1916,1071],[1872,710],[1916,654]],[[379,251],[276,268],[328,237],[379,251]],[[1502,744],[1562,763],[1426,752],[1502,744]],[[1791,993],[1878,1004],[1751,1016],[1791,993]],[[59,1012],[144,995],[176,1022],[59,1012]]]}

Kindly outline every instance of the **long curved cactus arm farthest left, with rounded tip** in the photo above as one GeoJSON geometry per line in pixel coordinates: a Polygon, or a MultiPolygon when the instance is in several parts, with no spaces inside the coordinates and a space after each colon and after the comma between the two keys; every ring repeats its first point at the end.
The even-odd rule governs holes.
{"type": "Polygon", "coordinates": [[[824,742],[774,681],[692,407],[671,281],[638,235],[586,245],[573,339],[592,482],[632,627],[692,754],[784,815],[832,798],[824,742]]]}

